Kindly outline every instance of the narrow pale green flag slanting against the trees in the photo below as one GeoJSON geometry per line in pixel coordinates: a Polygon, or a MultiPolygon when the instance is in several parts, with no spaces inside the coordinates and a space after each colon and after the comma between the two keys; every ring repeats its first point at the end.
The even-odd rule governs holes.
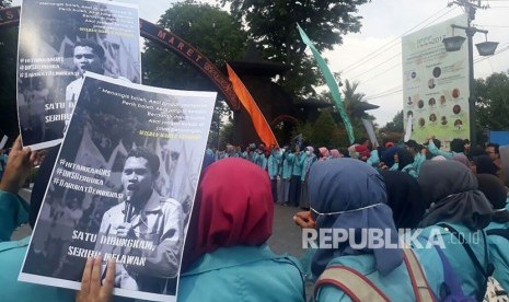
{"type": "Polygon", "coordinates": [[[348,139],[350,140],[350,143],[354,143],[354,128],[351,127],[350,119],[348,118],[348,115],[345,112],[345,107],[343,106],[342,94],[339,93],[339,88],[337,86],[336,80],[334,79],[334,76],[328,69],[327,63],[322,58],[322,56],[320,56],[319,50],[316,50],[311,39],[308,37],[304,31],[302,31],[299,24],[297,24],[297,27],[299,28],[302,42],[311,48],[311,51],[313,51],[314,59],[319,63],[320,71],[322,71],[322,74],[325,78],[325,82],[327,83],[327,86],[331,90],[331,94],[333,95],[334,103],[336,103],[336,107],[339,111],[339,115],[342,116],[343,124],[345,124],[348,139]]]}

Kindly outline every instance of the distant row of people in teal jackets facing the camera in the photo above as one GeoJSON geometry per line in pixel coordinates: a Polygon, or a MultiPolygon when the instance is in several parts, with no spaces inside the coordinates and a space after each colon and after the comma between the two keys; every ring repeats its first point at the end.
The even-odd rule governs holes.
{"type": "Polygon", "coordinates": [[[352,158],[366,162],[379,171],[401,171],[417,178],[425,160],[451,159],[464,163],[475,173],[501,175],[501,162],[498,143],[471,148],[468,140],[454,139],[450,142],[450,151],[441,150],[441,141],[429,138],[425,143],[415,140],[383,146],[372,146],[361,139],[349,148],[328,149],[315,146],[278,146],[251,143],[245,150],[240,146],[227,144],[224,150],[209,148],[206,151],[204,165],[228,158],[240,158],[265,170],[271,182],[275,202],[309,209],[308,174],[315,161],[327,159],[352,158]],[[373,148],[374,147],[374,148],[373,148]]]}

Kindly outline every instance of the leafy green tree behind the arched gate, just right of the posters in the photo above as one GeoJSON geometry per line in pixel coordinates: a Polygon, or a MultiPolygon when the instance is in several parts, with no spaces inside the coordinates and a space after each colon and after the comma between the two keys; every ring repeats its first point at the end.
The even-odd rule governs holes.
{"type": "MultiPolygon", "coordinates": [[[[217,5],[200,4],[194,0],[177,2],[166,10],[158,24],[189,42],[218,66],[239,59],[244,54],[247,34],[238,21],[217,5]]],[[[146,43],[142,59],[146,84],[181,90],[216,90],[212,82],[194,66],[151,42],[146,43]]],[[[217,138],[221,118],[228,114],[227,104],[218,100],[210,127],[211,137],[217,138]]]]}

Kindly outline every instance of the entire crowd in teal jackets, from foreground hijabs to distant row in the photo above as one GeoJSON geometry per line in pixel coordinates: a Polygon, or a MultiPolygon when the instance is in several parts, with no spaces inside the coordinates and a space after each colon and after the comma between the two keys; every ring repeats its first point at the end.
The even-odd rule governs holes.
{"type": "MultiPolygon", "coordinates": [[[[229,146],[228,159],[221,160],[207,150],[178,301],[507,299],[509,163],[500,156],[502,149],[453,140],[451,151],[443,152],[432,138],[426,144],[387,142],[371,151],[368,144],[343,152],[322,147],[317,154],[313,147],[301,152],[298,147],[250,146],[245,155],[229,146]],[[319,234],[309,267],[267,245],[275,202],[304,208],[294,222],[303,234],[319,234]],[[334,230],[348,231],[349,237],[327,242],[334,230]],[[359,243],[374,230],[383,232],[384,244],[359,243]],[[412,240],[401,244],[405,236],[412,240]],[[306,293],[308,271],[315,286],[306,293]]],[[[104,280],[101,259],[89,259],[77,295],[16,280],[30,237],[12,242],[10,236],[28,213],[33,225],[41,207],[16,196],[34,161],[35,152],[18,140],[0,183],[0,282],[5,286],[0,295],[109,301],[114,259],[104,280]]]]}

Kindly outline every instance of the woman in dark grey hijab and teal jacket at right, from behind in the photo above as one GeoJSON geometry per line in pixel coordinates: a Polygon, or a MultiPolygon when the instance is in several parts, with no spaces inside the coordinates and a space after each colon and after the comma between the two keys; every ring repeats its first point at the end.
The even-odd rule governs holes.
{"type": "MultiPolygon", "coordinates": [[[[426,161],[418,182],[426,194],[426,204],[431,205],[419,223],[424,228],[419,241],[423,242],[420,236],[430,237],[435,232],[444,245],[441,251],[463,294],[482,300],[487,275],[491,274],[483,231],[491,220],[491,205],[478,189],[474,174],[456,161],[426,161]]],[[[435,254],[435,251],[428,253],[431,256],[423,262],[425,267],[432,269],[441,263],[435,254]]]]}

